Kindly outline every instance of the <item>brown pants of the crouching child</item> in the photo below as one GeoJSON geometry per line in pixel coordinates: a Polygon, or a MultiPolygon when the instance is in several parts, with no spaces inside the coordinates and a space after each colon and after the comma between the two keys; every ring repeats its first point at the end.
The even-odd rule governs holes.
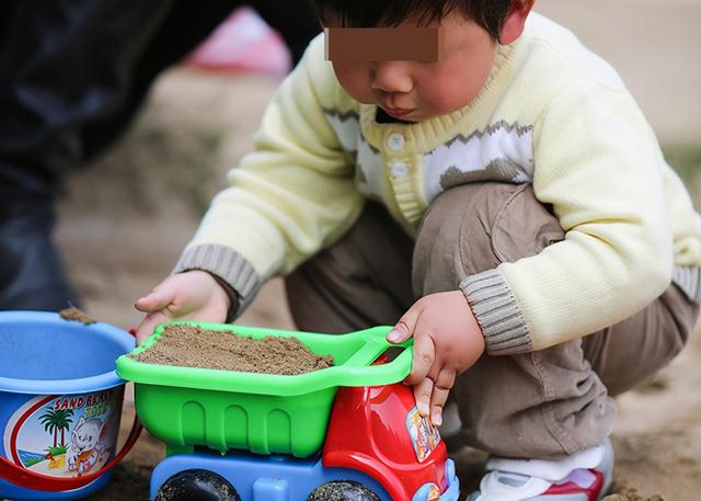
{"type": "MultiPolygon", "coordinates": [[[[377,204],[338,242],[286,282],[301,330],[394,324],[413,301],[462,278],[537,254],[564,232],[530,185],[472,183],[441,194],[416,241],[377,204]]],[[[466,443],[492,454],[549,457],[611,432],[611,395],[666,365],[685,345],[698,305],[671,285],[647,308],[582,339],[515,356],[484,355],[456,380],[466,443]]]]}

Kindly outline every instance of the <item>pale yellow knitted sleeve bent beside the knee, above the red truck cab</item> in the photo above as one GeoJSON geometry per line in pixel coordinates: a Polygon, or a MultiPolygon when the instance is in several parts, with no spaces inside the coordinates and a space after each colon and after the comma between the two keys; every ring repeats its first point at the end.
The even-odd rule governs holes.
{"type": "Polygon", "coordinates": [[[617,323],[671,278],[664,159],[632,96],[583,78],[553,98],[533,133],[533,190],[566,235],[461,284],[493,354],[617,323]]]}

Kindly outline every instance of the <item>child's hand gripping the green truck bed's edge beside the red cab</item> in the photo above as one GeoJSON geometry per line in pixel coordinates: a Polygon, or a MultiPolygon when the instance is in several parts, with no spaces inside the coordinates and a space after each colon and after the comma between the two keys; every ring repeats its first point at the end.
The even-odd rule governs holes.
{"type": "Polygon", "coordinates": [[[484,352],[484,334],[462,292],[453,291],[418,299],[387,339],[401,343],[412,335],[414,363],[404,383],[414,386],[418,412],[438,426],[456,376],[484,352]]]}

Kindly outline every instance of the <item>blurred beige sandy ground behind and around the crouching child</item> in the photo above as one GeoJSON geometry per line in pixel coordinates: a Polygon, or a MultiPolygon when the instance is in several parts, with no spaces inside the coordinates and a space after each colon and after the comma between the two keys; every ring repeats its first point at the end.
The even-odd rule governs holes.
{"type": "MultiPolygon", "coordinates": [[[[701,1],[541,0],[540,5],[619,68],[663,140],[698,141],[701,71],[689,65],[698,57],[701,1]],[[651,30],[657,36],[650,36],[651,30]]],[[[133,301],[169,273],[210,195],[222,186],[223,172],[250,149],[275,86],[254,76],[171,71],[119,145],[70,180],[57,240],[92,316],[124,328],[138,323],[133,301]]],[[[285,305],[280,283],[273,281],[239,322],[291,327],[285,305]]],[[[619,399],[617,475],[640,489],[639,499],[656,492],[666,500],[700,499],[700,338],[697,333],[655,382],[619,399]]],[[[133,413],[127,402],[125,430],[133,413]]],[[[92,499],[147,499],[149,472],[161,457],[161,445],[145,434],[112,485],[92,499]]],[[[480,460],[459,454],[463,479],[475,477],[480,460]]]]}

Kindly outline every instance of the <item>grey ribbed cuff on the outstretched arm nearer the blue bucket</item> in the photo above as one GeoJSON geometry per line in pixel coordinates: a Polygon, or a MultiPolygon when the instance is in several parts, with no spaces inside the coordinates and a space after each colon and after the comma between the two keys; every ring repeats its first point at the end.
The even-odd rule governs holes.
{"type": "MultiPolygon", "coordinates": [[[[227,321],[237,318],[253,300],[261,287],[261,277],[251,263],[233,249],[217,243],[191,247],[183,252],[172,273],[203,270],[222,281],[235,292],[227,321]]],[[[230,294],[230,291],[227,291],[230,294]]]]}

